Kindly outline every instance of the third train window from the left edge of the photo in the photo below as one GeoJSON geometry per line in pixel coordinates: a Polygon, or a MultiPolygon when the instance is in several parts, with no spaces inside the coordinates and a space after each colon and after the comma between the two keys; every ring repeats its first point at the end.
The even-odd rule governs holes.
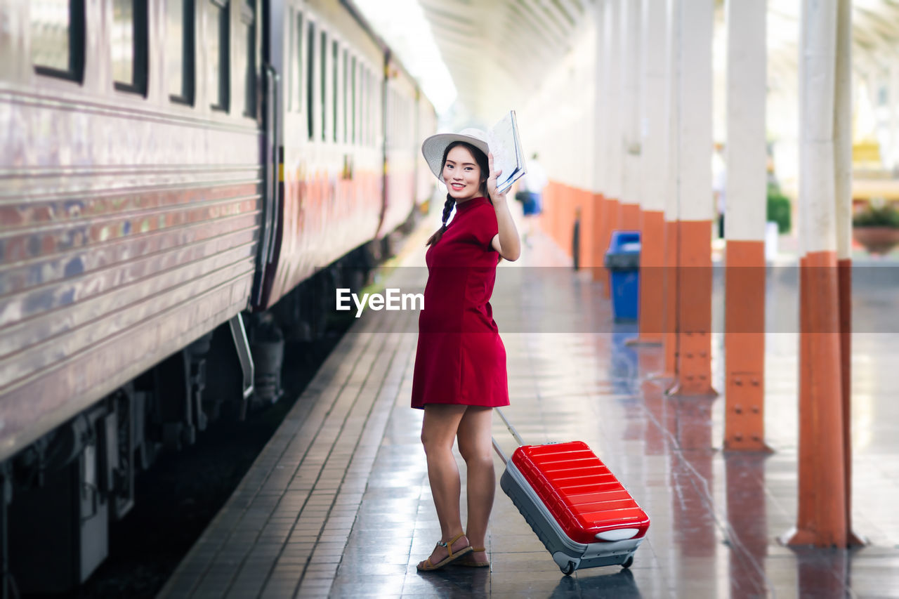
{"type": "Polygon", "coordinates": [[[193,105],[193,0],[165,3],[165,56],[169,99],[193,105]]]}

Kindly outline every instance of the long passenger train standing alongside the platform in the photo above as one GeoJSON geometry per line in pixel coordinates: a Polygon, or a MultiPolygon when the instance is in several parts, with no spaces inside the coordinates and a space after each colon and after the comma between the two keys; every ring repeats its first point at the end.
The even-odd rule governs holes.
{"type": "Polygon", "coordinates": [[[280,397],[427,208],[414,77],[349,0],[0,0],[4,594],[108,556],[161,451],[280,397]],[[329,291],[330,290],[330,291],[329,291]]]}

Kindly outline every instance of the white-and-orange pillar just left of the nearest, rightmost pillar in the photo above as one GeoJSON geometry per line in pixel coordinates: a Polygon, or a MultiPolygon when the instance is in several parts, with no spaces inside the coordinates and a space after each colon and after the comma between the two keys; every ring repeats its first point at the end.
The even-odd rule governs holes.
{"type": "Polygon", "coordinates": [[[766,451],[766,2],[730,0],[725,189],[725,449],[766,451]]]}

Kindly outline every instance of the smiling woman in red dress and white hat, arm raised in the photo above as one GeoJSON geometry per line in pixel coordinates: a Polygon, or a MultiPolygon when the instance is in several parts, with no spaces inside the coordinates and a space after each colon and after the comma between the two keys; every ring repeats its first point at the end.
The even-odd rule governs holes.
{"type": "Polygon", "coordinates": [[[481,130],[438,134],[422,152],[447,186],[443,224],[428,240],[428,282],[419,316],[412,407],[423,408],[422,443],[441,523],[441,541],[418,564],[422,571],[452,561],[489,566],[487,520],[496,478],[491,454],[493,408],[509,405],[505,348],[490,296],[500,257],[521,254],[504,193],[496,191],[493,155],[481,130]],[[447,225],[449,213],[456,216],[447,225]],[[467,468],[468,522],[462,529],[453,440],[467,468]]]}

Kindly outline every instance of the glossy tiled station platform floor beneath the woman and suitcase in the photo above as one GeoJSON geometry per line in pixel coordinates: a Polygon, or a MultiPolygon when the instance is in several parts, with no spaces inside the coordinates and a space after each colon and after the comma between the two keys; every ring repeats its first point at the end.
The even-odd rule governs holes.
{"type": "MultiPolygon", "coordinates": [[[[535,277],[531,291],[575,319],[610,319],[599,288],[565,269],[545,239],[504,268],[519,264],[563,266],[535,277]]],[[[494,296],[501,331],[538,317],[521,304],[494,296]]],[[[564,577],[497,488],[492,567],[420,574],[415,564],[440,531],[422,412],[408,407],[416,319],[396,314],[363,316],[345,336],[161,597],[899,597],[899,335],[854,338],[854,528],[871,542],[846,552],[777,541],[796,517],[797,335],[768,335],[775,451],[761,456],[721,451],[724,398],[665,397],[648,377],[661,350],[628,346],[627,328],[503,333],[508,416],[530,442],[589,443],[652,518],[647,540],[630,570],[564,577]]],[[[494,436],[512,450],[499,419],[494,436]]],[[[497,459],[497,476],[502,468],[497,459]]]]}

